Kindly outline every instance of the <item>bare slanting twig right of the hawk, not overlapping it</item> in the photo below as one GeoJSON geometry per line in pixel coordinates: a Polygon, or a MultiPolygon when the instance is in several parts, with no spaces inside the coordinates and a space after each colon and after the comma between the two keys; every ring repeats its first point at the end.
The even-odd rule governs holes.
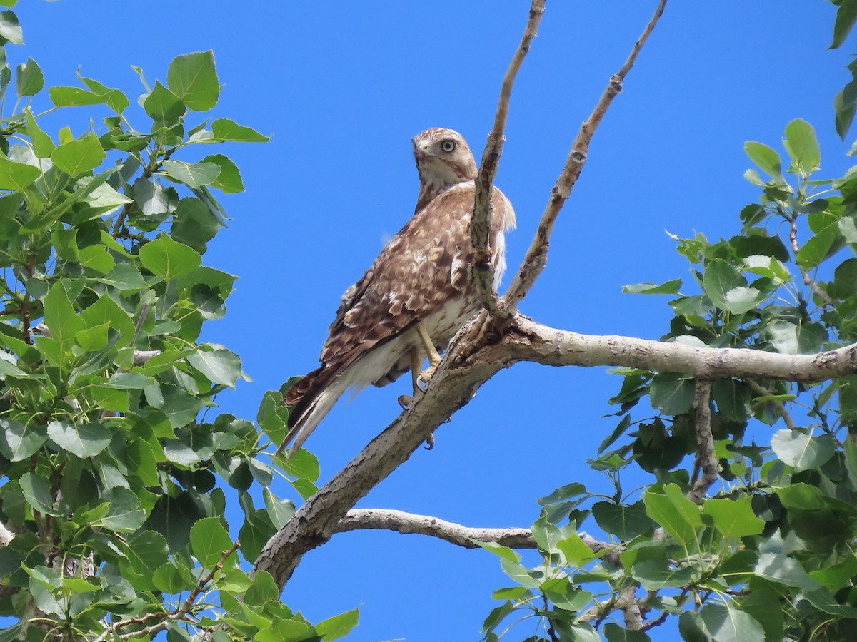
{"type": "Polygon", "coordinates": [[[550,190],[550,199],[548,199],[548,205],[542,213],[542,219],[539,221],[538,228],[536,229],[536,236],[533,238],[532,243],[530,243],[530,248],[527,250],[524,261],[518,269],[518,274],[515,275],[512,284],[506,291],[504,297],[506,306],[513,308],[513,306],[517,305],[518,301],[524,298],[532,287],[532,284],[536,282],[536,278],[542,273],[548,259],[548,245],[550,243],[551,232],[554,229],[554,222],[556,221],[556,217],[559,216],[562,206],[565,205],[569,194],[572,193],[572,189],[578,181],[584,163],[586,163],[586,156],[589,153],[592,136],[595,134],[598,124],[607,113],[613,99],[622,91],[622,82],[625,80],[628,72],[631,71],[646,39],[649,38],[649,34],[655,28],[657,21],[663,14],[666,4],[667,0],[661,0],[657,4],[655,14],[652,15],[649,24],[646,25],[639,39],[634,43],[625,64],[610,78],[608,86],[604,89],[601,98],[598,99],[598,103],[595,109],[592,110],[589,119],[584,121],[580,126],[578,135],[572,143],[571,152],[568,153],[568,158],[566,158],[566,165],[562,168],[556,184],[550,190]]]}

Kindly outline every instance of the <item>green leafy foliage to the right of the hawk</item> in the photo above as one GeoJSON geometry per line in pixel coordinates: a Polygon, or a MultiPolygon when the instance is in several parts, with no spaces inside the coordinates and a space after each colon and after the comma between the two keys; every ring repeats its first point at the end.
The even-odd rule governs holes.
{"type": "MultiPolygon", "coordinates": [[[[815,179],[818,143],[801,120],[788,123],[783,145],[785,159],[763,143],[746,144],[766,178],[746,172],[761,199],[740,212],[740,235],[676,238],[691,265],[689,288],[680,280],[626,286],[674,297],[663,341],[785,354],[857,341],[857,168],[815,179]]],[[[679,616],[687,640],[854,639],[857,380],[714,382],[710,428],[721,485],[693,502],[701,473],[693,456],[696,382],[616,373],[622,385],[611,403],[620,421],[590,461],[615,493],[594,496],[570,484],[543,498],[535,568],[491,547],[518,586],[495,592],[502,604],[485,621],[485,639],[499,639],[508,618],[528,611],[544,623],[544,636],[531,639],[596,640],[603,625],[608,640],[647,640],[668,615],[679,616]],[[646,398],[654,414],[643,409],[646,398]],[[780,420],[785,427],[773,431],[780,420]],[[639,498],[621,485],[629,467],[653,476],[639,498]],[[578,535],[590,517],[612,542],[595,562],[578,535]],[[632,602],[642,627],[605,623],[632,602]]]]}

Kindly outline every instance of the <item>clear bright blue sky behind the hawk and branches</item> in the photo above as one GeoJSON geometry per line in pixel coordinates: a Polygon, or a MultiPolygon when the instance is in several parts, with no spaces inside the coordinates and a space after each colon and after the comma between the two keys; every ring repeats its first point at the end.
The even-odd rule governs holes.
{"type": "MultiPolygon", "coordinates": [[[[512,270],[578,124],[655,4],[548,0],[512,96],[497,177],[518,214],[512,270]]],[[[240,354],[255,380],[221,395],[222,412],[253,419],[266,390],[315,367],[340,294],[413,211],[411,136],[455,128],[478,158],[528,8],[525,0],[25,0],[15,12],[27,46],[9,56],[14,64],[32,56],[48,85],[75,84],[80,68],[137,96],[131,65],[164,80],[173,56],[213,49],[225,84],[213,116],[273,134],[266,145],[218,150],[236,160],[247,191],[223,199],[233,220],[205,257],[241,277],[226,318],[204,336],[240,354]]],[[[738,212],[758,198],[742,178],[746,140],[782,149],[785,125],[804,118],[821,141],[822,174],[841,175],[850,141],[836,138],[831,104],[849,56],[848,47],[827,50],[833,11],[821,0],[673,0],[596,134],[522,311],[568,330],[657,338],[671,316],[666,299],[620,288],[687,276],[666,231],[738,233],[738,212]]],[[[88,116],[69,112],[57,126],[78,134],[88,116]]],[[[398,414],[405,378],[334,408],[307,444],[323,479],[398,414]]],[[[601,369],[500,372],[436,433],[434,451],[417,452],[360,506],[529,526],[536,498],[557,486],[580,480],[607,492],[585,459],[614,427],[602,415],[619,383],[601,369]]],[[[491,591],[509,585],[487,553],[355,532],[305,556],[284,599],[311,621],[359,606],[358,642],[468,640],[479,639],[491,591]]],[[[673,635],[668,628],[674,622],[658,639],[673,635]]],[[[509,639],[532,633],[521,626],[509,639]]]]}

